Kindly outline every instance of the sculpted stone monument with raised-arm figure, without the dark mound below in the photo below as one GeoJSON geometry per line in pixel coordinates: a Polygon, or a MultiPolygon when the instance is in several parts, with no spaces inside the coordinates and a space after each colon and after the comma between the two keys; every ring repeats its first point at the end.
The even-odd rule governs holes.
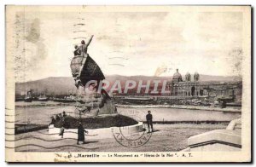
{"type": "Polygon", "coordinates": [[[97,116],[101,114],[117,113],[116,107],[105,89],[99,84],[105,79],[101,68],[87,53],[88,43],[81,41],[81,45],[74,51],[71,60],[71,71],[78,89],[77,107],[79,117],[97,116]]]}

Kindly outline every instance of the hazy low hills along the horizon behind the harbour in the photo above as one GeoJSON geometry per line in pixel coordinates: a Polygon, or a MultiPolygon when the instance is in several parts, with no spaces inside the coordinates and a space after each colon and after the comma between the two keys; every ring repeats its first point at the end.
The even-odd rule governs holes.
{"type": "MultiPolygon", "coordinates": [[[[126,80],[134,80],[138,82],[139,80],[172,80],[172,77],[148,77],[148,76],[120,76],[120,75],[110,75],[106,76],[106,79],[113,84],[115,80],[120,80],[122,87],[126,80]]],[[[184,79],[184,76],[183,76],[184,79]]],[[[201,75],[201,82],[218,81],[218,82],[230,82],[239,81],[239,77],[223,77],[223,76],[209,76],[201,75]]],[[[16,92],[26,92],[29,89],[33,89],[38,93],[47,92],[47,94],[75,94],[76,87],[74,86],[74,80],[71,77],[49,77],[44,79],[39,79],[35,81],[29,81],[26,83],[15,83],[16,92]]]]}

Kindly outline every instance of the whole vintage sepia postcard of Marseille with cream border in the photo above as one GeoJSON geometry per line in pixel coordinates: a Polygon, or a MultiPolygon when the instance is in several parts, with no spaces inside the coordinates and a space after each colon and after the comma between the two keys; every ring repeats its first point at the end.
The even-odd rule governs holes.
{"type": "Polygon", "coordinates": [[[7,162],[251,162],[251,6],[6,6],[7,162]]]}

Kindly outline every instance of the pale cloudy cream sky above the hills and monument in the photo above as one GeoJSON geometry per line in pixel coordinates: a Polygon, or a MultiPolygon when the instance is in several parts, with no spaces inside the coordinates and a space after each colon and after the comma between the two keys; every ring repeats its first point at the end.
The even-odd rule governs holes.
{"type": "Polygon", "coordinates": [[[15,78],[71,77],[74,37],[104,75],[241,75],[239,12],[19,12],[14,22],[15,78]],[[82,23],[84,26],[74,26],[82,23]],[[83,31],[83,32],[78,32],[83,31]],[[84,32],[85,31],[85,32],[84,32]]]}

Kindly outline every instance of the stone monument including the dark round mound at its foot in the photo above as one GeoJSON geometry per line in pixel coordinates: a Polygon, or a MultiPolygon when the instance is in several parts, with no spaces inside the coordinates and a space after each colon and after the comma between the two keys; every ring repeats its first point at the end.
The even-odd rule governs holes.
{"type": "Polygon", "coordinates": [[[100,86],[105,77],[95,60],[87,54],[92,37],[88,43],[84,43],[83,40],[80,46],[75,46],[70,64],[74,86],[78,90],[75,98],[75,116],[63,116],[49,127],[49,133],[55,133],[58,128],[66,131],[76,130],[80,123],[91,130],[138,124],[133,118],[119,114],[113,99],[105,89],[102,89],[103,86],[100,86]]]}

